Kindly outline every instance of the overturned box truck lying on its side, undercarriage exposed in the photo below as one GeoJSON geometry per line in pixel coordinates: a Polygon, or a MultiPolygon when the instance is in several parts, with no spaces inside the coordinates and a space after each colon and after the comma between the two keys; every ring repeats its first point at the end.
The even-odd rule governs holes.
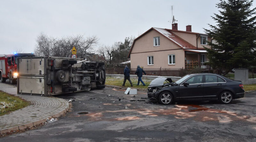
{"type": "Polygon", "coordinates": [[[52,96],[105,87],[103,62],[65,57],[18,57],[18,94],[52,96]]]}

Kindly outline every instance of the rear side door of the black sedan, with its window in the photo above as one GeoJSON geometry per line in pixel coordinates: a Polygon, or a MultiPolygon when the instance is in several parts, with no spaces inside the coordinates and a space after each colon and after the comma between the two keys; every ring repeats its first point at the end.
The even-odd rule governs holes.
{"type": "Polygon", "coordinates": [[[221,93],[226,81],[217,75],[204,75],[204,99],[217,98],[221,93]]]}

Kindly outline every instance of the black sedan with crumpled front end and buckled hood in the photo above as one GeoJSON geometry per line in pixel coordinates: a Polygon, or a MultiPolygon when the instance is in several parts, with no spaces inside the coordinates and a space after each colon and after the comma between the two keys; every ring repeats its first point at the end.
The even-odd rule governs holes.
{"type": "Polygon", "coordinates": [[[188,74],[172,82],[171,78],[158,77],[148,86],[148,98],[168,105],[175,100],[219,100],[223,104],[244,97],[241,81],[218,74],[188,74]]]}

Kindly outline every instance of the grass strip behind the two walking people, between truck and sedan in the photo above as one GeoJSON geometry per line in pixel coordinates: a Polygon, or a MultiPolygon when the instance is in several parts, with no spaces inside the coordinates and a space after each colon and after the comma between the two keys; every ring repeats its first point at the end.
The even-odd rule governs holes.
{"type": "MultiPolygon", "coordinates": [[[[138,78],[131,78],[131,81],[132,81],[133,88],[147,89],[152,80],[145,79],[142,77],[142,81],[146,84],[146,86],[143,86],[141,82],[140,82],[140,85],[137,86],[138,78]]],[[[124,77],[107,77],[105,84],[122,87],[123,82],[124,82],[124,77]]],[[[125,82],[125,87],[131,87],[131,84],[128,80],[126,80],[126,82],[125,82]]]]}

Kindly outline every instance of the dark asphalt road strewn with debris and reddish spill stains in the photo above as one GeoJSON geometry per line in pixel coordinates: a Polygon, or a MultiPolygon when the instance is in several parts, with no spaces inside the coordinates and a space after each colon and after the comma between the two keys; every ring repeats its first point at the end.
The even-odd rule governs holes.
{"type": "Polygon", "coordinates": [[[228,105],[181,101],[164,106],[141,99],[146,92],[134,98],[109,87],[57,97],[75,100],[66,116],[0,141],[256,141],[256,93],[228,105]]]}

